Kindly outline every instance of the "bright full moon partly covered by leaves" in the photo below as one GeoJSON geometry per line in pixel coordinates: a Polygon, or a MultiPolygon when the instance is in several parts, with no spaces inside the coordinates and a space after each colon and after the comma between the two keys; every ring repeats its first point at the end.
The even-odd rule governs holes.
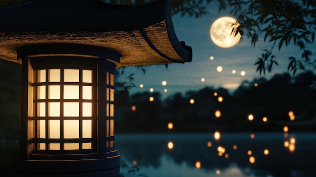
{"type": "MultiPolygon", "coordinates": [[[[218,18],[210,27],[210,39],[212,39],[216,45],[223,48],[229,48],[236,45],[241,38],[239,33],[236,36],[232,33],[232,24],[235,24],[236,22],[236,19],[228,16],[218,18]]],[[[240,24],[238,23],[237,25],[239,26],[240,24]]]]}

